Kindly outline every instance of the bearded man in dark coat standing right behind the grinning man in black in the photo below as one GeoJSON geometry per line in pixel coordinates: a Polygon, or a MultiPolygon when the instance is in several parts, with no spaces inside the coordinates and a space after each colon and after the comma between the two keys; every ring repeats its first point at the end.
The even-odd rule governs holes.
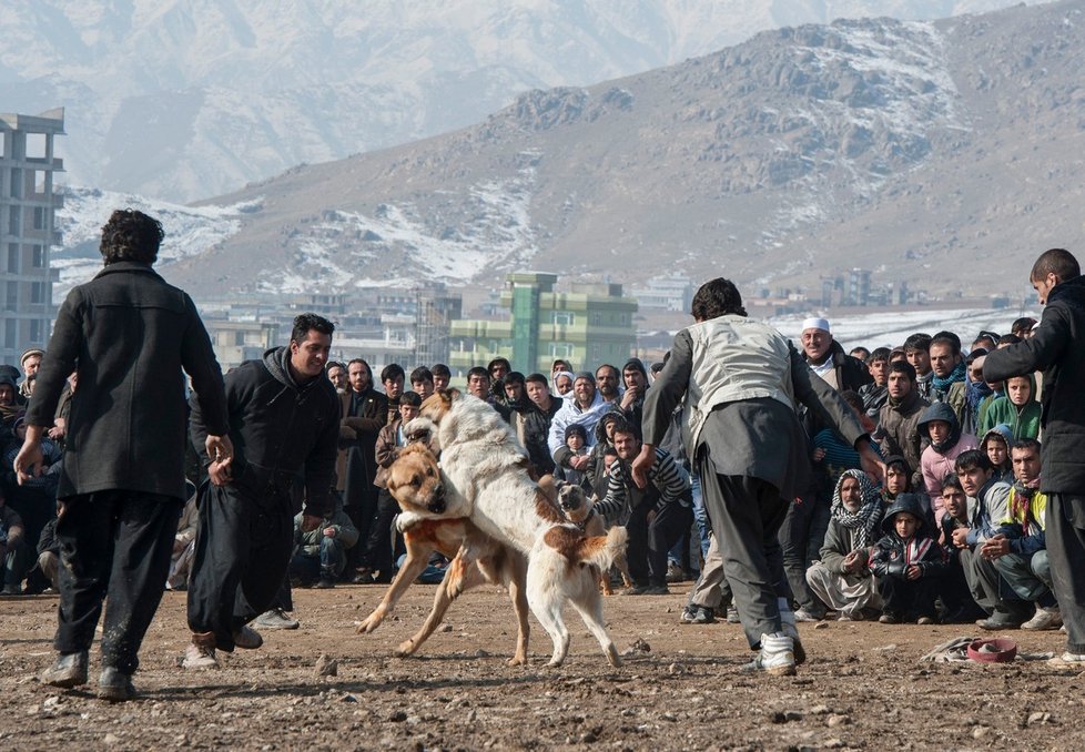
{"type": "MultiPolygon", "coordinates": [[[[345,457],[339,461],[337,472],[343,488],[343,511],[358,529],[358,540],[369,539],[369,526],[377,507],[377,488],[373,485],[377,476],[377,435],[384,427],[388,414],[387,398],[373,388],[373,372],[369,364],[355,358],[346,364],[347,380],[351,388],[339,396],[342,416],[341,447],[345,457]]],[[[347,572],[357,568],[365,556],[365,546],[351,548],[347,572]]],[[[368,571],[357,571],[356,582],[369,582],[368,571]]]]}

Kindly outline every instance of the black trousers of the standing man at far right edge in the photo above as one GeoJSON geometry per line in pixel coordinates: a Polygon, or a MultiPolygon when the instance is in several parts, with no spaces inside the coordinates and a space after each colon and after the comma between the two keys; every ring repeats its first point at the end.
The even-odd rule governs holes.
{"type": "Polygon", "coordinates": [[[1085,653],[1085,497],[1048,494],[1047,560],[1066,626],[1066,650],[1085,653]]]}

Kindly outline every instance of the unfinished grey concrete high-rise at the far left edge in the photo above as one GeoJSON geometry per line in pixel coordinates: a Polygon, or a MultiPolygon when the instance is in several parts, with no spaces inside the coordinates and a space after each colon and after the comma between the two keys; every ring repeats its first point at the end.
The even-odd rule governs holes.
{"type": "Polygon", "coordinates": [[[29,347],[49,342],[53,307],[50,246],[60,243],[54,193],[54,136],[64,134],[64,110],[40,115],[0,113],[0,363],[18,364],[29,347]]]}

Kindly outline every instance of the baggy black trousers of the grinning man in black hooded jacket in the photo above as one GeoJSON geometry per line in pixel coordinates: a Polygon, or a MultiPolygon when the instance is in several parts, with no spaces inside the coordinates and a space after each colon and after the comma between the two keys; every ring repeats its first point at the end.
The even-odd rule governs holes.
{"type": "Polygon", "coordinates": [[[281,602],[294,549],[290,490],[268,486],[263,494],[236,486],[200,488],[189,629],[214,632],[221,650],[234,649],[234,632],[281,602]]]}

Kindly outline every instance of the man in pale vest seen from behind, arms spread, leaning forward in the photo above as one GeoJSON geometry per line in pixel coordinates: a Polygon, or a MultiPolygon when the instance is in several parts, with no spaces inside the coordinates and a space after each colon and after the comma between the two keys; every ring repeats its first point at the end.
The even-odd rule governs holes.
{"type": "Polygon", "coordinates": [[[760,648],[750,668],[790,675],[805,656],[777,533],[810,466],[797,400],[855,447],[864,469],[883,468],[848,404],[814,377],[785,337],[747,318],[732,282],[720,277],[702,285],[692,314],[696,323],[675,336],[645,400],[645,441],[632,463],[633,481],[647,485],[656,445],[685,399],[683,444],[700,472],[747,639],[760,648]]]}

